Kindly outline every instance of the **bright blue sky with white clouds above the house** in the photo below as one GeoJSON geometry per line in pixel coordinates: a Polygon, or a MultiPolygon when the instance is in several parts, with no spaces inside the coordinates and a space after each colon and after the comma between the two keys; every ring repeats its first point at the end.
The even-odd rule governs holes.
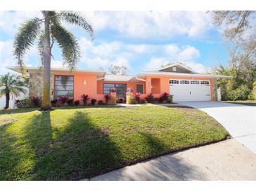
{"type": "MultiPolygon", "coordinates": [[[[184,62],[206,72],[227,62],[226,43],[212,15],[203,11],[84,11],[95,29],[95,40],[79,27],[63,23],[81,46],[79,69],[107,69],[111,64],[128,67],[129,74],[149,71],[168,62],[184,62]]],[[[0,12],[0,74],[14,66],[13,39],[20,23],[41,17],[39,11],[0,12]]],[[[36,44],[36,42],[35,42],[36,44]]],[[[53,49],[52,67],[62,67],[58,46],[53,49]]],[[[27,66],[39,66],[36,46],[25,57],[27,66]]]]}

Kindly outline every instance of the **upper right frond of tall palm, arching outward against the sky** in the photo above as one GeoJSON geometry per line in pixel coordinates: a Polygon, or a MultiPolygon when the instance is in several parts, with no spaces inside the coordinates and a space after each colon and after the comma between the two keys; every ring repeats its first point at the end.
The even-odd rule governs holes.
{"type": "Polygon", "coordinates": [[[83,29],[85,29],[86,32],[90,34],[90,38],[93,41],[94,30],[90,23],[86,20],[86,18],[72,11],[61,11],[58,14],[60,15],[60,18],[65,22],[69,22],[72,25],[78,25],[80,27],[83,27],[83,29]]]}

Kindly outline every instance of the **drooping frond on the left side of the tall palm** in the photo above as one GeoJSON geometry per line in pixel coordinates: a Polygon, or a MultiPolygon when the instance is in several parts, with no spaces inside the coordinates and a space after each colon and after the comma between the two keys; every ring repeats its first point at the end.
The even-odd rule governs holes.
{"type": "Polygon", "coordinates": [[[18,60],[18,67],[23,69],[23,55],[33,45],[37,34],[40,30],[39,18],[32,18],[27,20],[19,29],[18,34],[15,36],[14,41],[14,55],[18,60]]]}

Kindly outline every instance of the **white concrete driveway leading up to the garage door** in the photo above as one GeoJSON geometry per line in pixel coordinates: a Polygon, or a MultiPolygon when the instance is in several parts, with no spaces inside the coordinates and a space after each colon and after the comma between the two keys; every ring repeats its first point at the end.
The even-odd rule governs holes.
{"type": "Polygon", "coordinates": [[[179,102],[206,112],[256,154],[256,107],[224,102],[179,102]]]}

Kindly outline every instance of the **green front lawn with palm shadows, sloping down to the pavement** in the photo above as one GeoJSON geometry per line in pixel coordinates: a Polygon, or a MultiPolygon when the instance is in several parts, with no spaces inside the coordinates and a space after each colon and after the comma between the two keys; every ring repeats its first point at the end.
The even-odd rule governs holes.
{"type": "Polygon", "coordinates": [[[84,179],[227,135],[207,114],[182,107],[1,111],[0,179],[84,179]]]}

